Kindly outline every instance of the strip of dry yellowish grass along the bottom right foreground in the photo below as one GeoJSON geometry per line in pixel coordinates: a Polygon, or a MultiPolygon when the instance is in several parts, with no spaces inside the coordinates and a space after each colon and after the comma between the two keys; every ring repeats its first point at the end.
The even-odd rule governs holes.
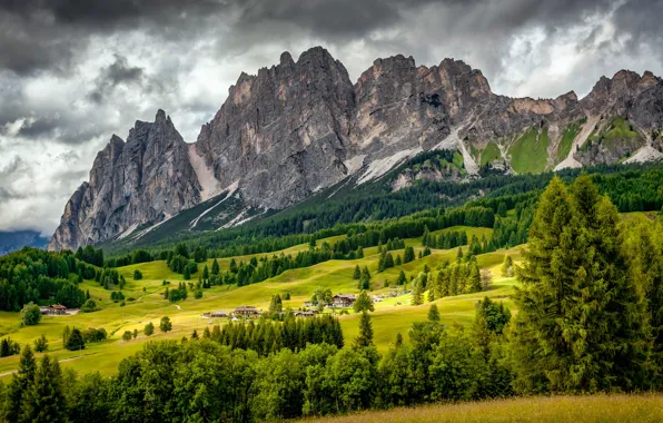
{"type": "Polygon", "coordinates": [[[521,397],[426,405],[305,422],[662,422],[663,395],[521,397]]]}

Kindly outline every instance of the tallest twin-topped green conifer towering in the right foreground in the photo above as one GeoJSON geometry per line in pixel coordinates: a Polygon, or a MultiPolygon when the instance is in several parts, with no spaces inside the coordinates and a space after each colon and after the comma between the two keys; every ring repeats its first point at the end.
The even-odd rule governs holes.
{"type": "Polygon", "coordinates": [[[588,178],[540,198],[514,296],[512,343],[523,392],[644,385],[646,318],[619,252],[620,217],[588,178]]]}

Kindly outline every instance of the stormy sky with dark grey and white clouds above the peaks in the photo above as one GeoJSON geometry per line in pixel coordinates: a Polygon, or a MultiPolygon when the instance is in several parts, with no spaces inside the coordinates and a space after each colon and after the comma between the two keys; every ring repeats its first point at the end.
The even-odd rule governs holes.
{"type": "Polygon", "coordinates": [[[166,110],[187,142],[239,75],[323,46],[355,81],[377,58],[444,58],[493,91],[586,95],[663,75],[663,0],[0,0],[0,230],[50,236],[112,134],[166,110]]]}

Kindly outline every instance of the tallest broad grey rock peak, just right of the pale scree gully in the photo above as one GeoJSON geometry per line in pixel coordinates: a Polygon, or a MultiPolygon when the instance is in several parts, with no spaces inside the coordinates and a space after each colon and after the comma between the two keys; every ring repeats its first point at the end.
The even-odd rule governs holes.
{"type": "Polygon", "coordinates": [[[286,52],[278,66],[241,75],[196,149],[222,187],[239,180],[249,204],[287,207],[347,176],[354,107],[348,73],[327,50],[297,62],[286,52]]]}

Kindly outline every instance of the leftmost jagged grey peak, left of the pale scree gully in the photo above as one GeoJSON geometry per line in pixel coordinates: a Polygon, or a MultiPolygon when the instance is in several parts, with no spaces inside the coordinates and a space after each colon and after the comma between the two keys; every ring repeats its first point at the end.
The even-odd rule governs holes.
{"type": "Polygon", "coordinates": [[[162,110],[137,121],[127,142],[113,136],[89,183],[67,203],[50,249],[96,244],[145,223],[156,223],[200,201],[187,145],[162,110]]]}

